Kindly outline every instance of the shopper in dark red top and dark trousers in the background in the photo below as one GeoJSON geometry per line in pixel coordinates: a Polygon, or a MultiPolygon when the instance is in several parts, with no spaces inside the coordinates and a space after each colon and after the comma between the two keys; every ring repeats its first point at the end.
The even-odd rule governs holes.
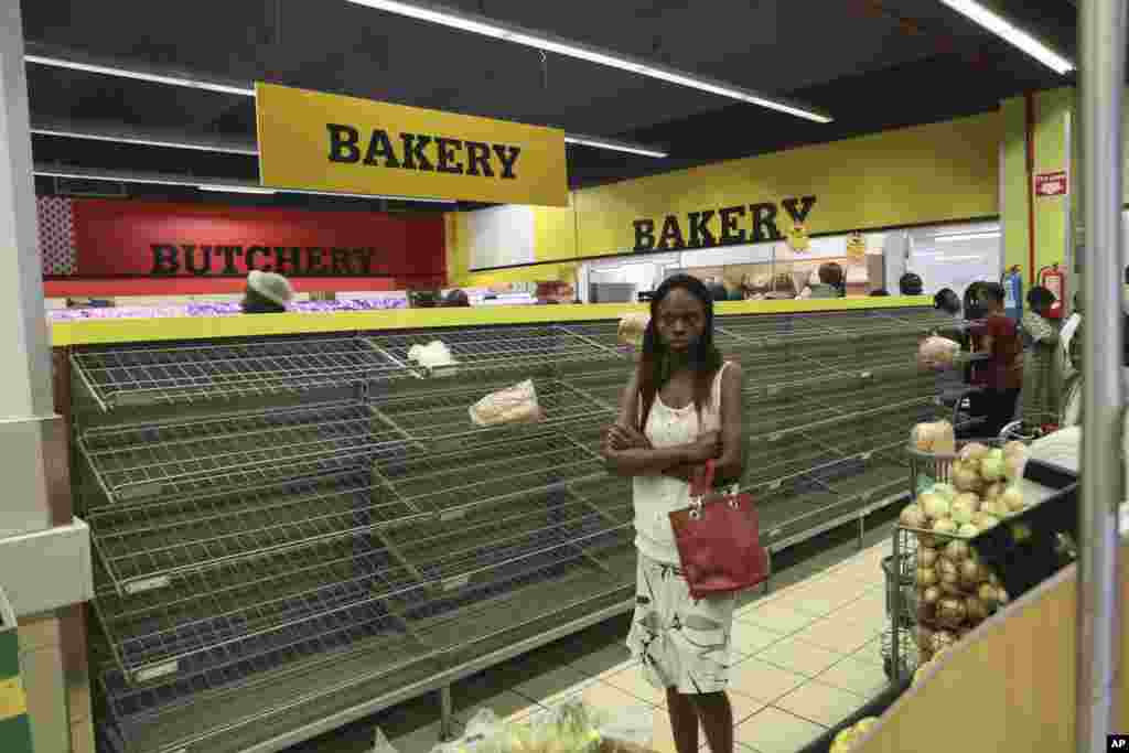
{"type": "Polygon", "coordinates": [[[1015,322],[1004,310],[1004,286],[982,282],[980,305],[987,316],[970,327],[977,349],[988,359],[973,365],[973,384],[983,387],[981,405],[984,415],[983,435],[995,437],[1015,420],[1015,404],[1023,386],[1023,343],[1015,322]]]}

